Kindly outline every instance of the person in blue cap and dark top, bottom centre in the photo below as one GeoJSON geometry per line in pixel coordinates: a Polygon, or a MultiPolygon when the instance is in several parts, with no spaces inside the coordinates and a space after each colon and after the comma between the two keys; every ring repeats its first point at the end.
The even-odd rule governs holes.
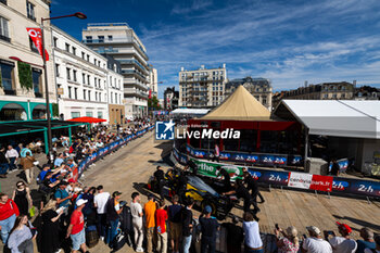
{"type": "Polygon", "coordinates": [[[212,217],[213,208],[206,205],[201,214],[199,220],[201,225],[201,253],[214,253],[216,248],[216,231],[219,230],[220,225],[215,217],[212,217]]]}

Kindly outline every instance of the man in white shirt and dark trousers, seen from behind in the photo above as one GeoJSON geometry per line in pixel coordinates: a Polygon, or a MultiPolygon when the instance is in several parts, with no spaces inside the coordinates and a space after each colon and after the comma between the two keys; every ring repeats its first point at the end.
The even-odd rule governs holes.
{"type": "Polygon", "coordinates": [[[103,192],[103,186],[97,187],[98,194],[93,198],[93,205],[97,207],[98,213],[98,232],[102,240],[105,237],[106,214],[105,205],[111,198],[109,192],[103,192]]]}

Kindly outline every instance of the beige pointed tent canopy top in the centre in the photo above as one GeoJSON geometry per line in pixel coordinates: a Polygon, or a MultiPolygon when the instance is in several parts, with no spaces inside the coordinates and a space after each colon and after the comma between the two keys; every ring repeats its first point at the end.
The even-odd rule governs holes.
{"type": "Polygon", "coordinates": [[[270,121],[269,116],[270,112],[241,85],[201,119],[270,121]]]}

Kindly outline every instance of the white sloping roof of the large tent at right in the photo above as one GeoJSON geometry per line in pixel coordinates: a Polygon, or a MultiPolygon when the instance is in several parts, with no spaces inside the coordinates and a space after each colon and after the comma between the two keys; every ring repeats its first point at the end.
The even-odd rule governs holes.
{"type": "Polygon", "coordinates": [[[282,104],[311,135],[380,139],[380,101],[283,100],[282,104]]]}

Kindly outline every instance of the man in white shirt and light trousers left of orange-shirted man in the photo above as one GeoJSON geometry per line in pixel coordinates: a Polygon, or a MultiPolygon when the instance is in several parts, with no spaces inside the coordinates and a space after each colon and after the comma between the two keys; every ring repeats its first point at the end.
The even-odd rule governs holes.
{"type": "Polygon", "coordinates": [[[140,205],[140,194],[139,192],[134,192],[132,202],[130,203],[130,213],[132,216],[132,226],[135,230],[135,243],[136,243],[136,252],[143,252],[142,249],[142,240],[143,240],[143,231],[142,231],[142,206],[140,205]]]}

